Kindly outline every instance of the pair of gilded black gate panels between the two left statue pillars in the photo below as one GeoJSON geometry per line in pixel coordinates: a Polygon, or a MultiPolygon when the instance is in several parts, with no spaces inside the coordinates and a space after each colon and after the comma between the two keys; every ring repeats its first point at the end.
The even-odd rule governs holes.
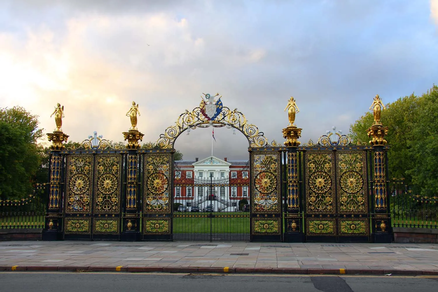
{"type": "Polygon", "coordinates": [[[119,239],[122,155],[90,152],[67,152],[64,239],[119,239]]]}

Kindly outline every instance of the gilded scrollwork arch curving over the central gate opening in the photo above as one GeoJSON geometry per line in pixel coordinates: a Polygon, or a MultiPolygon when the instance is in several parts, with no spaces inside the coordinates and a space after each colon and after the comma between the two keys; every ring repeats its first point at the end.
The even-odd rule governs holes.
{"type": "MultiPolygon", "coordinates": [[[[219,112],[219,110],[218,110],[219,112]]],[[[178,116],[174,126],[168,127],[161,134],[156,144],[162,149],[173,148],[177,137],[185,130],[207,127],[235,128],[248,139],[249,147],[279,147],[280,144],[273,140],[269,143],[264,133],[254,124],[248,123],[245,115],[237,109],[231,110],[226,106],[220,107],[220,112],[210,120],[205,115],[204,108],[197,107],[191,112],[186,111],[178,116]]]]}

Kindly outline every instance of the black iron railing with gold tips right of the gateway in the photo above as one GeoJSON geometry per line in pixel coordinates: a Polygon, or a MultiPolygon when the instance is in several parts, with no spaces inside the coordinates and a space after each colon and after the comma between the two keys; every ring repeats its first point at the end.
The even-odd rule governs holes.
{"type": "Polygon", "coordinates": [[[438,196],[416,195],[403,179],[392,181],[390,191],[393,227],[437,228],[438,196]]]}

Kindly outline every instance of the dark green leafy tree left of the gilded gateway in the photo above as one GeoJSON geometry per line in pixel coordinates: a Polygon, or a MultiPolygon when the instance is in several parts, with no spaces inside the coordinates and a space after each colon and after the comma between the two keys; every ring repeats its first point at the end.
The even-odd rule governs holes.
{"type": "Polygon", "coordinates": [[[22,198],[33,191],[43,148],[38,116],[24,108],[0,109],[0,197],[22,198]]]}

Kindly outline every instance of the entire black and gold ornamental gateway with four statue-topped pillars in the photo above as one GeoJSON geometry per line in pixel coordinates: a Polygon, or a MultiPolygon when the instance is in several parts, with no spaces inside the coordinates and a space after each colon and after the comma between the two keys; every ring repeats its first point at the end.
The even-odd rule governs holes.
{"type": "Polygon", "coordinates": [[[47,134],[53,144],[43,238],[247,240],[249,232],[251,241],[391,241],[388,127],[380,123],[378,96],[374,124],[367,129],[370,146],[331,133],[302,147],[297,141],[302,129],[294,124],[299,110],[292,97],[286,106],[289,126],[283,129],[286,147],[280,147],[215,96],[205,95],[199,107],[182,113],[149,149],[140,149],[143,134],[136,127],[138,105],[133,102],[123,149],[109,147],[95,133],[79,147],[65,150],[68,135],[61,130],[63,108],[58,105],[57,129],[47,134]],[[228,127],[245,135],[250,152],[246,181],[173,178],[175,140],[198,127],[228,127]],[[178,210],[173,203],[182,199],[173,196],[174,186],[201,186],[209,193],[206,200],[178,210]],[[218,196],[217,187],[234,186],[249,186],[249,214],[218,196]]]}

